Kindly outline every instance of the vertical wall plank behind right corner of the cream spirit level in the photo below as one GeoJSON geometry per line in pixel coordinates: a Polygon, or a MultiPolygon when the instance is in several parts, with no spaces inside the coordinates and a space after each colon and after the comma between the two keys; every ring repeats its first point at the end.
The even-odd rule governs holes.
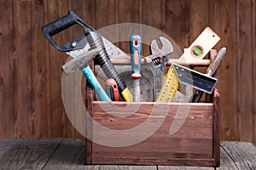
{"type": "Polygon", "coordinates": [[[209,25],[216,29],[221,37],[217,50],[227,48],[224,60],[218,69],[218,81],[221,90],[221,139],[238,140],[238,122],[236,116],[236,2],[209,1],[209,25]]]}

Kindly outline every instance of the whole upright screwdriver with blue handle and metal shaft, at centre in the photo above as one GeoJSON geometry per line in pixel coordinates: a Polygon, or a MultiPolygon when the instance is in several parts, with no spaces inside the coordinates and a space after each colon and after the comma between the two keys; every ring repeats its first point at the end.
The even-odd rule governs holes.
{"type": "Polygon", "coordinates": [[[133,85],[133,101],[139,102],[141,89],[140,78],[141,58],[142,58],[142,37],[138,34],[133,34],[130,37],[130,53],[131,53],[131,78],[133,85]]]}

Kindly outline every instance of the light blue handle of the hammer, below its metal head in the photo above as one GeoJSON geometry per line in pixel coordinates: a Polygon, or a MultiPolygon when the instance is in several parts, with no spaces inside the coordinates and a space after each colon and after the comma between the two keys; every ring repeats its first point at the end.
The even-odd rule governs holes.
{"type": "Polygon", "coordinates": [[[111,101],[111,99],[108,98],[108,94],[106,94],[101,84],[97,81],[93,72],[90,70],[89,66],[84,67],[83,73],[84,77],[86,77],[87,81],[90,83],[91,88],[94,88],[97,96],[101,99],[101,101],[111,101]]]}

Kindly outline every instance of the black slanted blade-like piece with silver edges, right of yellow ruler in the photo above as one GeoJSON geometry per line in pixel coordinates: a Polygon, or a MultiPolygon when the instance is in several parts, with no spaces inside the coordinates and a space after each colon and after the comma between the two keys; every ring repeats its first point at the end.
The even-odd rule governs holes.
{"type": "Polygon", "coordinates": [[[217,78],[209,77],[201,72],[191,70],[182,65],[172,64],[180,83],[199,89],[207,94],[212,94],[217,78]]]}

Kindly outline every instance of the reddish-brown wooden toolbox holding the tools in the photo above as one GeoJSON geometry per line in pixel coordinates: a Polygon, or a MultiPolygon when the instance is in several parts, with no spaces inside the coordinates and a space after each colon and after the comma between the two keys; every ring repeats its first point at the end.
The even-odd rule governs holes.
{"type": "Polygon", "coordinates": [[[204,103],[194,104],[102,102],[96,101],[93,89],[86,86],[85,103],[88,113],[93,118],[92,120],[86,117],[86,133],[93,140],[101,138],[111,140],[115,138],[114,132],[122,132],[123,141],[132,143],[132,138],[147,136],[149,132],[154,132],[160,120],[163,122],[155,128],[156,131],[151,136],[137,144],[112,147],[85,139],[85,163],[218,167],[220,163],[218,92],[217,84],[212,95],[207,95],[204,103]],[[184,117],[186,114],[183,111],[188,111],[187,117],[184,117]],[[153,116],[150,115],[152,113],[153,116]],[[131,116],[122,116],[125,114],[131,116]],[[147,122],[149,116],[150,121],[147,122]],[[172,126],[172,130],[176,128],[173,127],[174,120],[176,124],[185,121],[176,133],[171,134],[170,127],[172,126]],[[99,132],[94,122],[113,130],[99,132]],[[144,122],[147,123],[143,124],[144,122]],[[148,128],[148,131],[137,129],[141,126],[148,128]],[[133,129],[133,131],[125,131],[125,129],[133,129]]]}

